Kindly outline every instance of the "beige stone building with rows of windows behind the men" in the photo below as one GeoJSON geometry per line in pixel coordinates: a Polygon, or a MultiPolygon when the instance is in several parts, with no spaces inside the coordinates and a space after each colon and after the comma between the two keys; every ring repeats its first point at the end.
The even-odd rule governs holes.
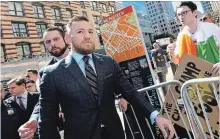
{"type": "Polygon", "coordinates": [[[44,30],[58,26],[65,30],[68,20],[84,15],[96,29],[96,48],[100,48],[99,24],[103,17],[115,12],[114,2],[94,1],[2,1],[1,62],[45,55],[44,30]]]}

